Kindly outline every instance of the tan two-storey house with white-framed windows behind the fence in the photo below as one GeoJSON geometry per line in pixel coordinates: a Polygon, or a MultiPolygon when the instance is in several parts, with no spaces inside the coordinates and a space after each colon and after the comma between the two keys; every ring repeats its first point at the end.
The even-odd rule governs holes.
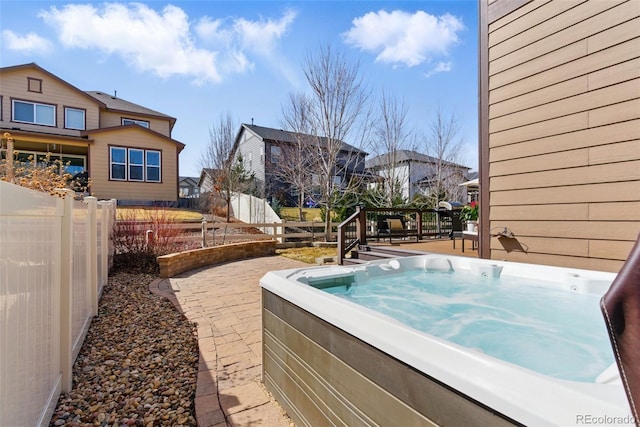
{"type": "Polygon", "coordinates": [[[51,153],[67,172],[88,173],[99,199],[178,199],[184,144],[171,138],[175,118],[82,91],[35,63],[0,68],[0,101],[0,132],[11,133],[19,160],[51,153]]]}

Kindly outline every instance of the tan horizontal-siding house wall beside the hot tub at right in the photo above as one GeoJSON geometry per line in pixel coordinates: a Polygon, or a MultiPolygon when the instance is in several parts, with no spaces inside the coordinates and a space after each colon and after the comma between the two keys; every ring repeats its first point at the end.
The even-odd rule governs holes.
{"type": "Polygon", "coordinates": [[[640,2],[480,4],[480,255],[618,271],[640,233],[640,2]]]}

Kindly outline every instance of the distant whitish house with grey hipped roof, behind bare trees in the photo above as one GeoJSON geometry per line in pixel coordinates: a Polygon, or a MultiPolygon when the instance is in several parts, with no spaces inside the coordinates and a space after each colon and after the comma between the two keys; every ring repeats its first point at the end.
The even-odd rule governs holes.
{"type": "MultiPolygon", "coordinates": [[[[428,195],[434,185],[434,170],[438,159],[412,150],[396,150],[395,155],[385,153],[366,161],[366,170],[373,175],[381,176],[384,185],[388,185],[391,177],[402,189],[403,197],[410,201],[416,195],[428,195]]],[[[458,197],[454,201],[464,201],[465,189],[458,185],[466,181],[470,168],[456,163],[443,162],[447,176],[443,177],[451,184],[452,193],[458,197]]]]}

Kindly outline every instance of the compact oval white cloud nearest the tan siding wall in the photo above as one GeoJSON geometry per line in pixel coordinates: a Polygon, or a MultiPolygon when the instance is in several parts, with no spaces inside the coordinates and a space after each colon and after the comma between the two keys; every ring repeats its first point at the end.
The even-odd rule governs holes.
{"type": "Polygon", "coordinates": [[[394,10],[369,12],[355,18],[343,34],[345,42],[376,54],[376,61],[413,67],[447,56],[456,44],[462,21],[450,14],[433,16],[423,11],[409,14],[394,10]]]}

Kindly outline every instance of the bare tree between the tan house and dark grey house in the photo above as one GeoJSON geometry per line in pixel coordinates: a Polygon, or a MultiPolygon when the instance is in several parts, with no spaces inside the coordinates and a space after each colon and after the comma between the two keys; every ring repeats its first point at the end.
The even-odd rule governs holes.
{"type": "MultiPolygon", "coordinates": [[[[242,156],[234,152],[237,129],[229,113],[221,114],[209,130],[209,144],[201,158],[201,166],[213,179],[212,196],[221,196],[226,204],[227,222],[231,219],[231,196],[246,190],[253,178],[244,168],[242,156]]],[[[210,206],[214,206],[214,200],[210,200],[210,206]]]]}

